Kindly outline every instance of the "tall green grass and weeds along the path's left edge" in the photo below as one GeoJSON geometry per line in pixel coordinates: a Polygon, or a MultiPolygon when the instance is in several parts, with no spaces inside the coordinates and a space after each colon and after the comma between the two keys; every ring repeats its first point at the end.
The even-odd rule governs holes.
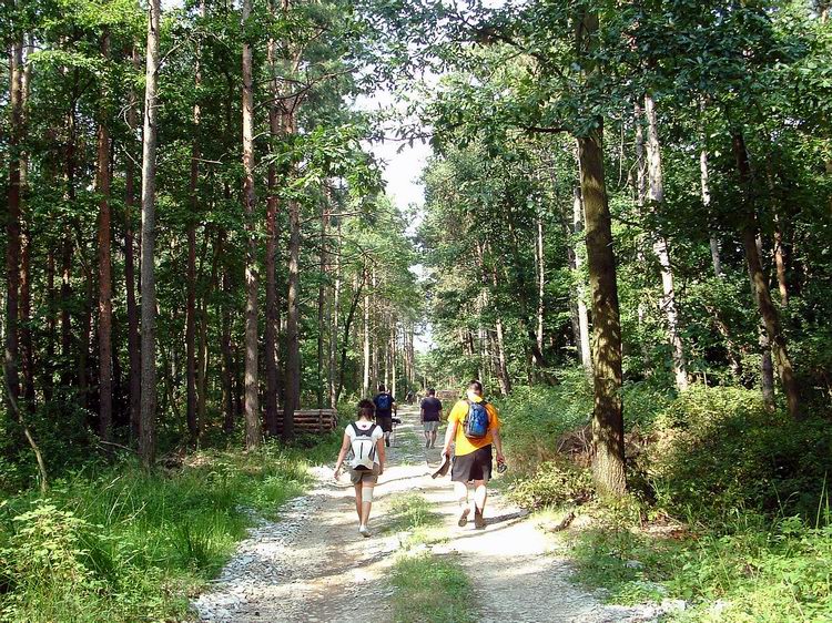
{"type": "Polygon", "coordinates": [[[47,497],[3,500],[0,621],[186,616],[244,537],[247,509],[275,518],[303,491],[310,453],[197,452],[151,474],[125,459],[57,481],[47,497]]]}

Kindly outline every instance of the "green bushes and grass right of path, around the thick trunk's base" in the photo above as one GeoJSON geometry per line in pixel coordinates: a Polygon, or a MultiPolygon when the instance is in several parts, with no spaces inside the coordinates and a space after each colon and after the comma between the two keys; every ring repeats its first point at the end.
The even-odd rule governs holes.
{"type": "Polygon", "coordinates": [[[684,600],[677,621],[832,620],[829,413],[795,422],[757,390],[630,384],[630,494],[612,508],[591,491],[589,386],[562,378],[500,406],[515,501],[591,502],[591,528],[568,537],[576,580],[615,603],[684,600]]]}

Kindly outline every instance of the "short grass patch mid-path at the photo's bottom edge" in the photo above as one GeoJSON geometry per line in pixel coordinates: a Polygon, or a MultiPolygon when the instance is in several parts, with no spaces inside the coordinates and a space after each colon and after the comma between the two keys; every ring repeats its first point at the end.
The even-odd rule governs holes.
{"type": "Polygon", "coordinates": [[[447,556],[405,555],[393,568],[396,623],[474,623],[470,581],[447,556]]]}

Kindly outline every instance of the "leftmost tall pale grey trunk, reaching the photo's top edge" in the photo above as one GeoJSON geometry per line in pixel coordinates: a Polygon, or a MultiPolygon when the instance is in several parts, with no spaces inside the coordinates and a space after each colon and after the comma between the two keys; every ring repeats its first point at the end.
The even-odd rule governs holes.
{"type": "Polygon", "coordinates": [[[142,140],[142,389],[139,417],[139,455],[145,468],[153,466],[156,452],[156,132],[159,119],[159,40],[161,0],[150,0],[148,54],[142,140]]]}

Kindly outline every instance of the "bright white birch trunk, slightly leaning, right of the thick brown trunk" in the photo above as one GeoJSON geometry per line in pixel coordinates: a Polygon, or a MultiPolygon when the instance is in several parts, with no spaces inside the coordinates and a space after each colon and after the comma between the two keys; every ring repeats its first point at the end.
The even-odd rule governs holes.
{"type": "MultiPolygon", "coordinates": [[[[664,182],[661,171],[661,147],[659,146],[659,130],[656,115],[656,104],[652,95],[645,95],[645,114],[647,116],[647,162],[648,177],[650,184],[650,204],[653,212],[659,212],[664,203],[664,182]]],[[[668,324],[668,340],[672,350],[673,376],[676,387],[680,391],[688,389],[688,364],[684,357],[684,347],[679,335],[679,315],[676,303],[676,288],[673,285],[673,270],[670,265],[670,251],[668,241],[661,232],[656,233],[653,253],[659,261],[661,272],[662,300],[661,307],[668,324]]]]}

